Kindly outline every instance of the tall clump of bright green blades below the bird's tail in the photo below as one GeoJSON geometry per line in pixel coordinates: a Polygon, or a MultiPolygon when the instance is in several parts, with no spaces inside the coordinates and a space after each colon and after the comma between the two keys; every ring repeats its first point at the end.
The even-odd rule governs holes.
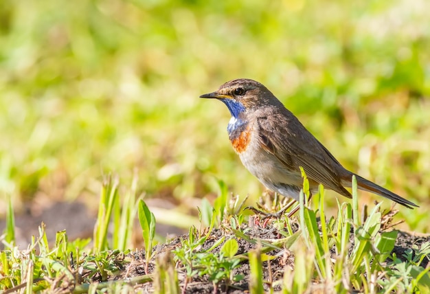
{"type": "MultiPolygon", "coordinates": [[[[299,222],[307,252],[315,257],[313,258],[314,267],[305,266],[307,262],[300,262],[304,261],[303,249],[295,251],[294,275],[298,274],[302,278],[297,277],[294,280],[284,278],[286,293],[311,291],[310,278],[304,277],[317,278],[321,284],[330,285],[332,289],[336,289],[337,293],[348,293],[353,289],[363,289],[367,293],[371,289],[378,289],[374,281],[378,273],[387,271],[385,260],[394,249],[397,237],[397,231],[381,231],[382,214],[379,209],[381,204],[376,205],[363,224],[360,224],[357,181],[353,177],[353,204],[338,204],[337,219],[326,220],[324,188],[322,186],[319,188],[319,210],[316,212],[309,210],[304,205],[304,199],[308,196],[306,189],[308,184],[305,174],[303,177],[305,192],[300,193],[299,222]],[[317,214],[319,214],[319,220],[317,214]],[[351,242],[352,236],[354,236],[354,242],[351,242]],[[297,264],[303,266],[297,267],[297,264]]],[[[422,271],[417,272],[422,273],[422,271]]],[[[425,278],[425,275],[423,274],[422,277],[425,278]]]]}

